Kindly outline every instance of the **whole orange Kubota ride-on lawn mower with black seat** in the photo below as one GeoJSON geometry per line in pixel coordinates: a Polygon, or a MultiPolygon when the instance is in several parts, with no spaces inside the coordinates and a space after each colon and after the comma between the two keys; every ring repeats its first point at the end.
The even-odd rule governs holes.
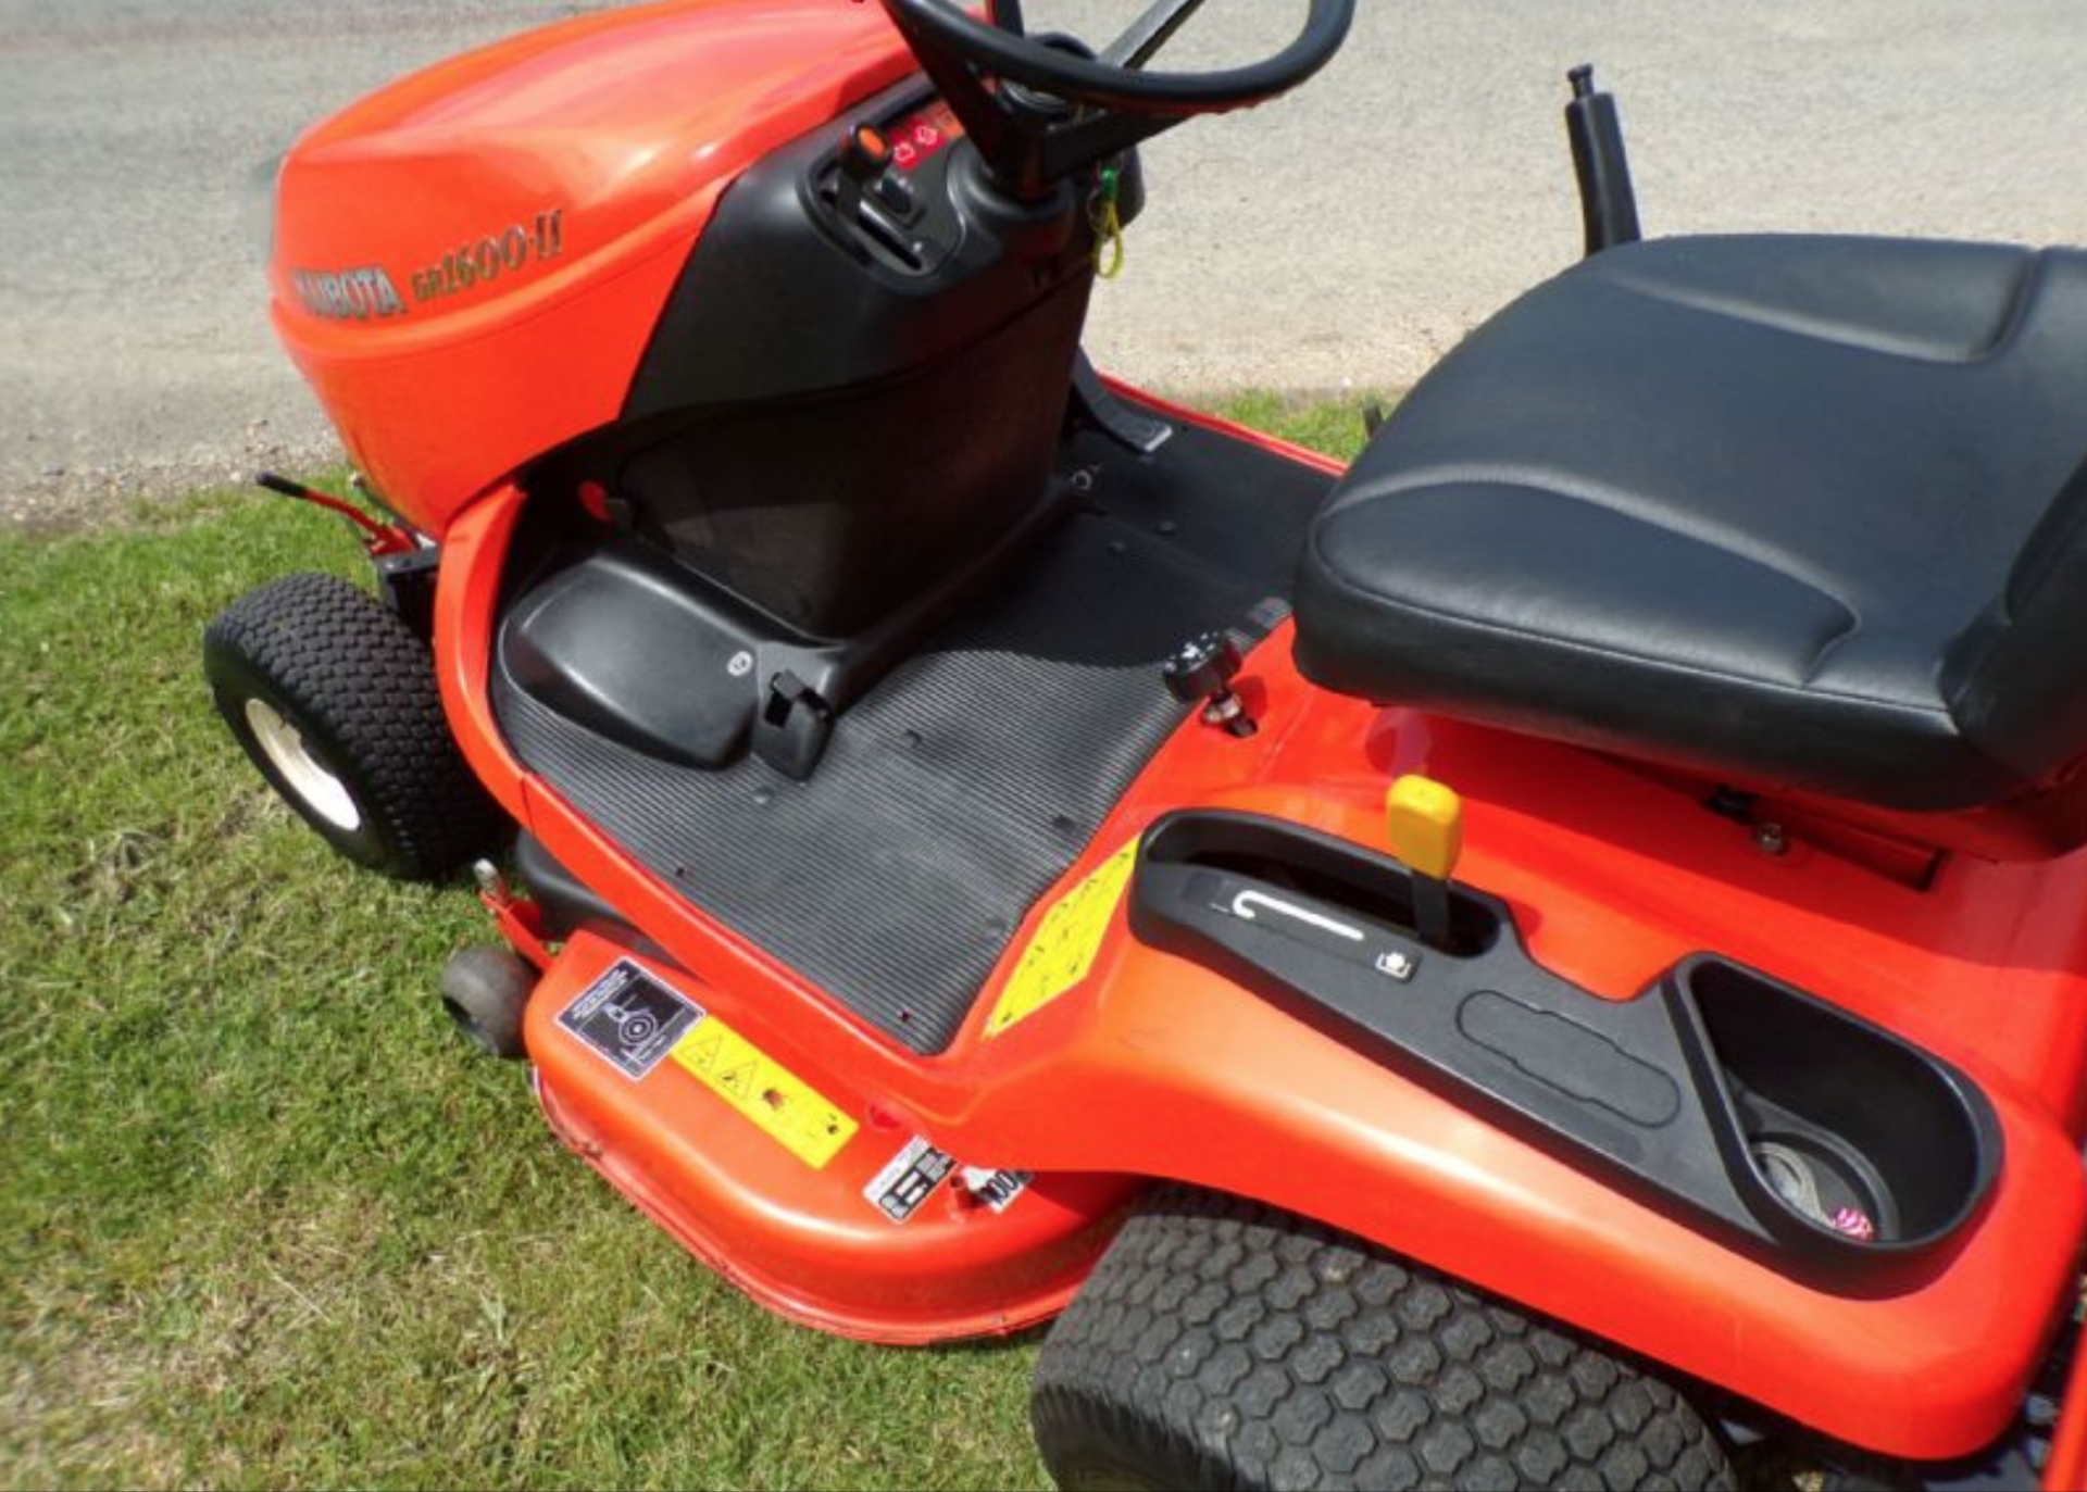
{"type": "Polygon", "coordinates": [[[307,134],[382,603],[234,603],[234,735],[478,862],[451,1012],[755,1300],[1058,1317],[1064,1486],[2077,1486],[2087,255],[1640,242],[1576,73],[1588,257],[1342,472],[1081,353],[1140,142],[1352,0],[1196,8],[682,0],[307,134]]]}

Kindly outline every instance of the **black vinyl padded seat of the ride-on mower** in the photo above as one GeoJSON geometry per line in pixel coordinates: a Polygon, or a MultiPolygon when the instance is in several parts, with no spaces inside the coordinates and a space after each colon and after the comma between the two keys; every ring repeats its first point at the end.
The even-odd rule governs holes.
{"type": "Polygon", "coordinates": [[[1296,616],[1329,689],[2081,843],[2087,252],[1603,252],[1398,407],[1296,616]]]}

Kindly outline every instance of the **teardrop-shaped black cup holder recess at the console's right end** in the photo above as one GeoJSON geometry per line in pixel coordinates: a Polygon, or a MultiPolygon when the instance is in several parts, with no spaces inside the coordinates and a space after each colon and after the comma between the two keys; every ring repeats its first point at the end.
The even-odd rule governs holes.
{"type": "Polygon", "coordinates": [[[1720,958],[1670,993],[1730,1181],[1786,1248],[1916,1254],[1985,1200],[1999,1125],[1941,1058],[1720,958]]]}

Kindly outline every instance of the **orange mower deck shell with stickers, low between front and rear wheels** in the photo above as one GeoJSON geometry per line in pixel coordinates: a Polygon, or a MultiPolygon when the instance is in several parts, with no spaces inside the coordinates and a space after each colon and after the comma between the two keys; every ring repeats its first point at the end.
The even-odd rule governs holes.
{"type": "MultiPolygon", "coordinates": [[[[995,1210],[954,1181],[904,1225],[891,1223],[864,1192],[914,1131],[856,1096],[818,1054],[760,1039],[818,1096],[837,1106],[847,1096],[860,1125],[814,1166],[672,1060],[632,1083],[559,1029],[557,1014],[620,958],[624,949],[582,933],[530,1000],[545,1114],[624,1196],[778,1315],[895,1344],[1018,1331],[1064,1308],[1140,1189],[1123,1175],[1048,1175],[995,1210]]],[[[703,1010],[728,1004],[687,974],[649,968],[703,1010]]],[[[735,1029],[743,1022],[733,1016],[735,1029]]]]}

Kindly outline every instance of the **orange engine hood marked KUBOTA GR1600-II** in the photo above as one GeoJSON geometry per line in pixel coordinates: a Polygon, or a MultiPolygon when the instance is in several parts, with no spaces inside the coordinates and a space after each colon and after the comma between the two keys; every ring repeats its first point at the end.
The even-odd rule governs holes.
{"type": "Polygon", "coordinates": [[[879,6],[835,0],[674,0],[440,63],[290,150],[275,332],[386,503],[440,538],[616,419],[741,171],[910,71],[879,6]]]}

